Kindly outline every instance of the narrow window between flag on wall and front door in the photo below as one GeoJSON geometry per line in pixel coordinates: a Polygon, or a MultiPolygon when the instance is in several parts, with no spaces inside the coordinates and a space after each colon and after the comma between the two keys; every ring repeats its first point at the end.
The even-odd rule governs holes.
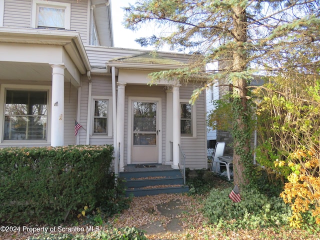
{"type": "Polygon", "coordinates": [[[93,134],[108,134],[108,100],[94,100],[93,134]]]}

